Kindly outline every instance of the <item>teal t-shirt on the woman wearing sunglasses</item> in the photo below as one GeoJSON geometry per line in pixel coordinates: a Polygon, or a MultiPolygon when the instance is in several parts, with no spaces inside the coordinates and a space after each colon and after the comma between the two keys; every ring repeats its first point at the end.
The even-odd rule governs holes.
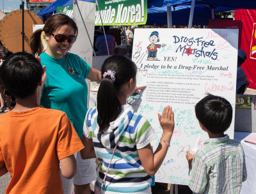
{"type": "Polygon", "coordinates": [[[89,64],[72,53],[67,54],[67,59],[66,56],[55,59],[43,52],[40,58],[47,74],[40,104],[65,112],[82,138],[88,93],[85,78],[90,72],[89,64]]]}

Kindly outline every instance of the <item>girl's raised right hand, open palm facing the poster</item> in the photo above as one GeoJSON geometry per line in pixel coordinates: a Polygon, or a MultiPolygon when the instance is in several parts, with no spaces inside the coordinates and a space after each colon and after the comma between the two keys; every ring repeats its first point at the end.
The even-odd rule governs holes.
{"type": "Polygon", "coordinates": [[[164,107],[162,116],[161,114],[158,114],[158,119],[163,128],[163,132],[170,132],[172,134],[174,130],[174,113],[172,107],[164,107]]]}

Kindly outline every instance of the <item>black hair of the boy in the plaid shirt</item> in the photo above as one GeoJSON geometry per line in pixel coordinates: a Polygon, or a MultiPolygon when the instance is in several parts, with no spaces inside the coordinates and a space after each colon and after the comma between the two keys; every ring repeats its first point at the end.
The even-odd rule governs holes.
{"type": "Polygon", "coordinates": [[[232,106],[220,96],[208,94],[195,107],[196,118],[213,133],[223,133],[232,121],[232,106]]]}

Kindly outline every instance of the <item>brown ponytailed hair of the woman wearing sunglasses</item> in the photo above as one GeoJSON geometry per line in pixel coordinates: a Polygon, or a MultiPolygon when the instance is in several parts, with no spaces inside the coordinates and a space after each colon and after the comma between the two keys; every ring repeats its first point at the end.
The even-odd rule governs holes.
{"type": "Polygon", "coordinates": [[[44,51],[44,46],[41,42],[42,31],[44,31],[45,34],[52,34],[58,27],[63,25],[72,26],[74,28],[75,34],[77,35],[78,29],[76,22],[74,22],[73,19],[62,13],[52,15],[49,17],[49,19],[46,20],[43,29],[38,29],[32,34],[29,43],[31,53],[35,56],[35,54],[39,55],[44,51]]]}

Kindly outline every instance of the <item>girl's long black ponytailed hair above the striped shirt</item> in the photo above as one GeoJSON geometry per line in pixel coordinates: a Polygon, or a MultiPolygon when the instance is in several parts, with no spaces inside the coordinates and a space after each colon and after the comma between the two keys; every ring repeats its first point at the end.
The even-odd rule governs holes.
{"type": "Polygon", "coordinates": [[[115,81],[106,75],[100,83],[97,94],[99,131],[108,128],[109,123],[118,117],[122,111],[118,94],[131,78],[136,78],[136,64],[124,56],[111,56],[106,59],[101,68],[102,76],[108,70],[115,71],[115,81]]]}

